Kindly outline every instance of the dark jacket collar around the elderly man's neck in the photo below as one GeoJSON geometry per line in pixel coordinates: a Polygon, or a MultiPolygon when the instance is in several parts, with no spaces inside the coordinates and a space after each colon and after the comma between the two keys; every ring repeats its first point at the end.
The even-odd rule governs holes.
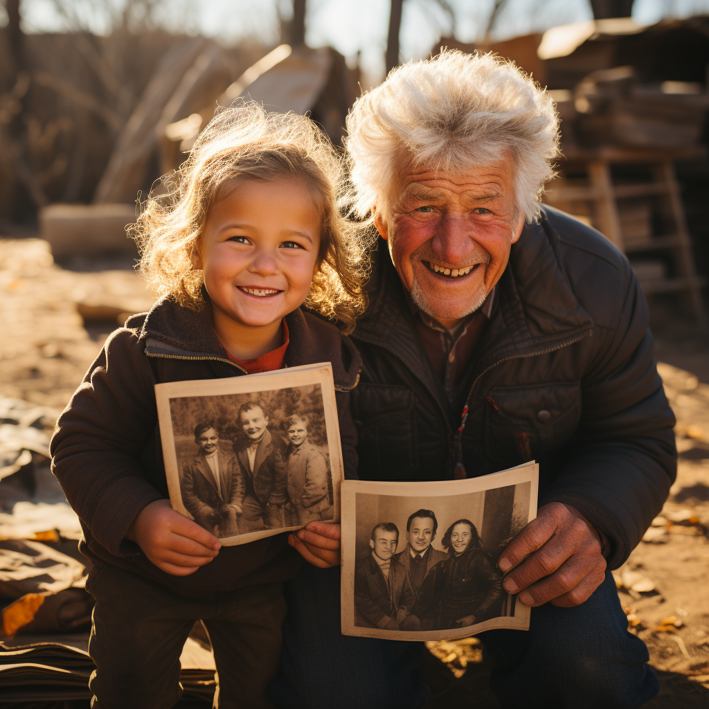
{"type": "MultiPolygon", "coordinates": [[[[500,359],[555,350],[591,334],[593,320],[559,266],[558,242],[559,235],[545,210],[539,223],[523,228],[498,281],[498,303],[489,326],[476,348],[480,369],[500,359]]],[[[440,389],[418,342],[401,279],[386,250],[373,255],[368,292],[369,309],[357,321],[352,337],[393,352],[430,391],[440,389]]]]}

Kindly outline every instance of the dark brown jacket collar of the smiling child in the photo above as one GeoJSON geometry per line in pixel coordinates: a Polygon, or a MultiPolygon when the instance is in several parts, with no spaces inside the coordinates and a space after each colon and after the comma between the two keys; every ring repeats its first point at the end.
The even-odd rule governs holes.
{"type": "MultiPolygon", "coordinates": [[[[286,315],[286,323],[290,343],[284,367],[330,362],[335,389],[349,391],[356,386],[361,360],[349,338],[342,337],[333,325],[301,308],[286,315]]],[[[148,357],[216,359],[233,364],[235,373],[243,372],[229,359],[214,332],[208,298],[199,310],[185,308],[172,298],[160,298],[147,315],[133,316],[126,326],[140,328],[139,339],[145,343],[148,357]]]]}

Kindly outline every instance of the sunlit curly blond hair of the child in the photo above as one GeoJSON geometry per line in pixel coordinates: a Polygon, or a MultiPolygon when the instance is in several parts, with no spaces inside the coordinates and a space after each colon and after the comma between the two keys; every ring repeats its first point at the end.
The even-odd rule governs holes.
{"type": "Polygon", "coordinates": [[[267,113],[253,101],[218,110],[189,158],[163,178],[167,194],[154,190],[133,226],[140,273],[161,296],[201,308],[203,273],[191,259],[211,205],[241,180],[301,179],[322,217],[319,266],[306,306],[351,332],[354,318],[366,307],[362,284],[372,235],[337,208],[344,185],[342,162],[306,116],[267,113]]]}

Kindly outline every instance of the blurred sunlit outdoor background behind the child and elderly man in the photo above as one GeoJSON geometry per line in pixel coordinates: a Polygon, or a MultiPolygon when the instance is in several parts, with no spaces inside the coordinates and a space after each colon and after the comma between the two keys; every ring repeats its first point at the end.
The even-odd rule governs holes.
{"type": "MultiPolygon", "coordinates": [[[[309,113],[341,146],[362,90],[441,47],[552,91],[544,199],[640,278],[680,463],[616,584],[661,678],[648,706],[709,705],[709,0],[0,0],[1,701],[87,706],[86,559],[48,442],[108,333],[155,301],[125,233],[138,202],[218,105],[309,113]]],[[[200,627],[185,707],[213,694],[200,627]]],[[[476,639],[429,649],[431,708],[497,706],[476,639]]]]}

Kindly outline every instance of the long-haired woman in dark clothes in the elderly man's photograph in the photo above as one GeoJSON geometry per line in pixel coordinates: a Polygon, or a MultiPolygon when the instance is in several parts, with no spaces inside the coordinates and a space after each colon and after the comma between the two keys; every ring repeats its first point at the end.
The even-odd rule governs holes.
{"type": "Polygon", "coordinates": [[[423,581],[413,615],[421,630],[449,630],[487,620],[486,611],[502,593],[502,574],[482,548],[470,520],[457,520],[443,535],[448,556],[423,581]]]}

